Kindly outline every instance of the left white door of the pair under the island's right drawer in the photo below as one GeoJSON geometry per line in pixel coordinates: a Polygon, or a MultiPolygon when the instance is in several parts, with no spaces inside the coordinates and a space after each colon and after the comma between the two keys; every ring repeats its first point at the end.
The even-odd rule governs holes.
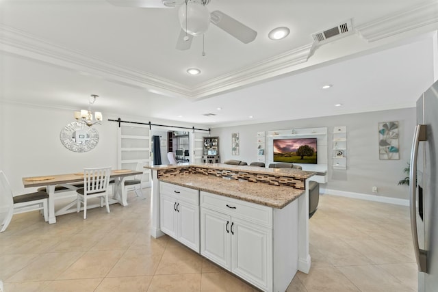
{"type": "Polygon", "coordinates": [[[201,254],[231,269],[231,217],[201,208],[201,254]]]}

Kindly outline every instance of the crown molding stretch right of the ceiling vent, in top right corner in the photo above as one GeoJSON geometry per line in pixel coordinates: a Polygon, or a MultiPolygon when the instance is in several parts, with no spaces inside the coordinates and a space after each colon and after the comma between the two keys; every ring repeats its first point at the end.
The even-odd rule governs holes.
{"type": "MultiPolygon", "coordinates": [[[[415,5],[383,18],[356,27],[368,42],[389,38],[427,25],[438,23],[438,1],[415,5]]],[[[438,28],[438,24],[435,29],[438,28]]]]}

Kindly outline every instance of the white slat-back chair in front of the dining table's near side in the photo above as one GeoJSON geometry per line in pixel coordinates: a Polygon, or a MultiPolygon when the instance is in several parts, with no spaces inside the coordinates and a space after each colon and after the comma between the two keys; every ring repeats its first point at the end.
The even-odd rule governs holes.
{"type": "Polygon", "coordinates": [[[83,219],[87,218],[87,200],[89,198],[100,198],[101,207],[103,200],[110,213],[108,204],[108,185],[110,185],[111,168],[85,168],[83,170],[83,187],[77,189],[77,213],[81,211],[83,204],[83,219]]]}

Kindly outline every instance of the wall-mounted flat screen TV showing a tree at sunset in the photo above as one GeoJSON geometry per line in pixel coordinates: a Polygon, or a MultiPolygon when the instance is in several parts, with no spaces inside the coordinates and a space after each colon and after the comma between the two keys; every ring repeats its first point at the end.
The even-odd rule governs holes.
{"type": "Polygon", "coordinates": [[[277,139],[274,162],[317,164],[316,138],[277,139]]]}

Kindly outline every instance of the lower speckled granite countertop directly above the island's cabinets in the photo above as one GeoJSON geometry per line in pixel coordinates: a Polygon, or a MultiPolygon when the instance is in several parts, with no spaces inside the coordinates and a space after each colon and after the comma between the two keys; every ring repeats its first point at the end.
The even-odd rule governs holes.
{"type": "Polygon", "coordinates": [[[209,193],[253,202],[255,204],[263,204],[276,209],[282,209],[302,194],[305,194],[304,190],[294,189],[293,187],[250,183],[233,179],[229,180],[203,174],[181,174],[159,178],[159,181],[173,183],[181,187],[208,191],[209,193]]]}

